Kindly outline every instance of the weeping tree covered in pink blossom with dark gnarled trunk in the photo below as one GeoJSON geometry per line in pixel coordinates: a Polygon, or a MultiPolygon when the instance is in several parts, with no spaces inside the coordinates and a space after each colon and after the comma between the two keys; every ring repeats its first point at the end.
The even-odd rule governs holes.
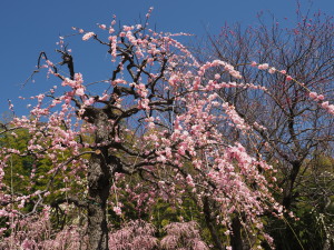
{"type": "MultiPolygon", "coordinates": [[[[151,206],[163,197],[180,204],[181,193],[190,190],[205,212],[216,248],[230,249],[228,241],[219,239],[213,222],[225,228],[228,239],[235,217],[245,231],[262,236],[273,247],[262,221],[266,212],[276,216],[283,212],[271,193],[275,189],[273,168],[261,157],[248,154],[242,142],[230,143],[219,132],[220,127],[230,126],[240,133],[252,134],[256,123],[246,123],[217,94],[227,88],[266,89],[223,81],[224,76],[230,79],[242,76],[222,60],[198,63],[175,39],[181,34],[158,33],[148,29],[147,23],[124,26],[116,31],[115,23],[114,19],[110,26],[99,26],[107,33],[106,40],[104,33],[73,28],[82,40],[95,40],[110,54],[114,70],[108,80],[98,81],[100,87],[96,82],[85,83],[84,76],[75,71],[72,54],[61,38],[58,51],[63,61],[53,63],[41,53],[38,66],[38,70],[46,68],[55,81],[59,79],[60,88],[56,84],[48,93],[36,96],[37,104],[29,117],[14,117],[9,123],[1,123],[2,136],[17,137],[22,129],[30,134],[26,147],[7,144],[0,151],[3,237],[16,239],[17,227],[32,216],[40,214],[38,218],[46,220],[52,208],[71,206],[87,217],[87,248],[108,249],[108,242],[115,243],[118,236],[109,233],[108,207],[122,216],[125,208],[117,199],[119,183],[127,176],[138,174],[136,187],[121,186],[129,196],[137,197],[138,203],[146,199],[146,206],[151,206]],[[61,66],[68,68],[69,74],[62,73],[61,66]],[[208,78],[207,72],[213,69],[219,73],[208,78]],[[13,177],[13,157],[31,159],[30,183],[21,192],[6,181],[13,177]],[[47,183],[36,186],[40,180],[47,183]],[[115,192],[116,199],[111,199],[115,192]],[[215,218],[213,204],[218,212],[215,218]]],[[[267,67],[261,64],[258,69],[267,67]]],[[[166,242],[174,238],[180,241],[176,228],[187,227],[167,228],[173,233],[161,246],[170,249],[166,242]]],[[[199,246],[196,249],[207,248],[197,239],[198,231],[186,236],[196,238],[199,246]]],[[[151,234],[146,240],[153,248],[157,246],[151,234]]],[[[33,239],[26,241],[26,249],[33,243],[33,239]]]]}

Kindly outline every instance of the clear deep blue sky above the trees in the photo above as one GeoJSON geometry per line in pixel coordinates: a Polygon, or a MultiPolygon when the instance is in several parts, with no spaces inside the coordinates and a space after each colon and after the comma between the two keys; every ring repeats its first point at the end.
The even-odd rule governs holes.
{"type": "MultiPolygon", "coordinates": [[[[328,16],[334,14],[334,0],[299,2],[304,10],[311,8],[313,11],[322,10],[328,16]]],[[[43,76],[37,83],[28,83],[23,89],[20,87],[33,71],[39,52],[55,51],[58,37],[71,33],[71,27],[94,30],[96,23],[108,24],[112,14],[122,24],[138,23],[139,17],[144,17],[149,7],[155,8],[150,24],[158,31],[188,32],[200,37],[206,30],[218,33],[225,22],[256,24],[256,14],[259,11],[268,12],[277,20],[293,19],[296,1],[0,0],[0,113],[8,110],[8,99],[14,103],[18,114],[28,113],[24,110],[26,104],[20,104],[18,97],[30,97],[53,86],[52,80],[47,80],[43,76]]],[[[94,60],[97,59],[96,53],[101,51],[97,47],[81,47],[78,39],[71,48],[73,53],[84,51],[86,57],[78,64],[78,71],[87,71],[89,78],[95,79],[94,72],[99,74],[99,68],[94,60]],[[85,51],[86,48],[89,51],[85,51]]],[[[101,57],[105,57],[104,52],[101,57]]]]}

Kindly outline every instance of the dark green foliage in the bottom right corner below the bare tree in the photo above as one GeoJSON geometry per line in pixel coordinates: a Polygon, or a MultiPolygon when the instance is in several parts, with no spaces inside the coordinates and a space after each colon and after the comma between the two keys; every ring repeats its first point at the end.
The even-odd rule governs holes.
{"type": "Polygon", "coordinates": [[[334,232],[334,159],[317,154],[303,166],[302,172],[301,184],[294,190],[297,196],[292,206],[295,218],[288,214],[285,214],[286,220],[267,218],[266,228],[282,249],[323,249],[328,236],[334,243],[331,238],[334,232]]]}

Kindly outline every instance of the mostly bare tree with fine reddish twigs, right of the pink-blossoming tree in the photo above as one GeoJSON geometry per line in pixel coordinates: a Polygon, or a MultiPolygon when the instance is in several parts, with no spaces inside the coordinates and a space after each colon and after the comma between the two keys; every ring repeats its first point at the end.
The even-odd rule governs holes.
{"type": "MultiPolygon", "coordinates": [[[[218,36],[208,36],[206,49],[197,54],[199,61],[219,58],[235,66],[243,74],[236,84],[256,82],[266,89],[263,92],[236,88],[217,91],[246,123],[253,124],[256,136],[245,136],[230,128],[220,132],[234,134],[230,140],[243,141],[248,150],[275,166],[283,189],[278,196],[281,203],[302,216],[303,226],[291,222],[297,238],[305,249],[327,249],[327,242],[333,246],[333,237],[323,232],[332,228],[333,214],[327,213],[327,224],[322,230],[314,223],[324,214],[325,200],[331,200],[334,192],[331,160],[334,107],[327,102],[334,100],[333,19],[321,12],[303,14],[297,10],[295,26],[288,22],[288,27],[283,27],[274,18],[272,26],[267,24],[266,18],[259,16],[258,27],[223,27],[218,36]],[[269,73],[249,68],[252,62],[269,73]],[[331,168],[321,167],[318,159],[327,159],[331,168]]],[[[212,76],[215,73],[218,71],[212,76]]],[[[283,224],[285,230],[277,230],[276,226],[268,228],[276,233],[278,249],[301,248],[288,224],[283,224]]]]}

